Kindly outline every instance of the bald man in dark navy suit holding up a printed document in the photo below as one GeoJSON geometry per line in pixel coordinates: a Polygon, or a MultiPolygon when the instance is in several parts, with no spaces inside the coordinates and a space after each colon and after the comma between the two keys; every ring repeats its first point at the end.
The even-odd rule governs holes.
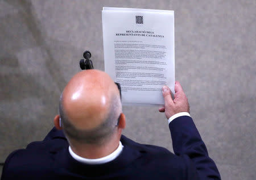
{"type": "Polygon", "coordinates": [[[60,96],[55,128],[41,142],[11,153],[2,179],[220,179],[189,115],[179,82],[163,87],[175,154],[122,135],[120,92],[99,70],[77,73],[60,96]]]}

